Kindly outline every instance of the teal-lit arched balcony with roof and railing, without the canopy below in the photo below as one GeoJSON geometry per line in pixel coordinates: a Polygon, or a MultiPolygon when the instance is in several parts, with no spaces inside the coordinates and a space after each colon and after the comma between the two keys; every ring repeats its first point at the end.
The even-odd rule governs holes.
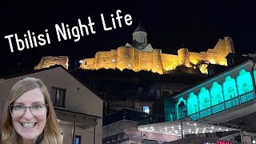
{"type": "MultiPolygon", "coordinates": [[[[254,65],[253,61],[248,60],[174,95],[174,115],[166,115],[166,117],[178,120],[189,116],[193,120],[198,120],[253,101],[256,81],[254,65]]],[[[167,111],[172,109],[165,108],[167,111]]],[[[233,112],[237,113],[237,111],[233,112]]],[[[251,112],[248,110],[246,113],[251,112]]],[[[233,117],[239,116],[232,115],[233,117]]]]}

